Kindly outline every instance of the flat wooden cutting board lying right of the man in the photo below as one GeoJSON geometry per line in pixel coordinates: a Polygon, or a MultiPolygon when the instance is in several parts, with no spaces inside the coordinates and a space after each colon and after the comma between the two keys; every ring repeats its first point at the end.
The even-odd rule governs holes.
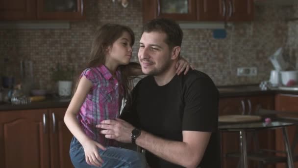
{"type": "Polygon", "coordinates": [[[262,117],[258,115],[221,115],[219,122],[246,122],[246,121],[259,121],[262,117]]]}

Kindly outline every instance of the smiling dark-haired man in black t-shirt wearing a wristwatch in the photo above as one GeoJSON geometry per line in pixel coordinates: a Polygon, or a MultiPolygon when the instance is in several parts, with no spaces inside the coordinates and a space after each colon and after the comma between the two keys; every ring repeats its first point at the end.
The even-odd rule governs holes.
{"type": "Polygon", "coordinates": [[[108,139],[146,149],[151,168],[220,168],[219,93],[204,73],[175,74],[182,30],[155,19],[144,26],[138,53],[144,74],[121,118],[98,125],[108,139]]]}

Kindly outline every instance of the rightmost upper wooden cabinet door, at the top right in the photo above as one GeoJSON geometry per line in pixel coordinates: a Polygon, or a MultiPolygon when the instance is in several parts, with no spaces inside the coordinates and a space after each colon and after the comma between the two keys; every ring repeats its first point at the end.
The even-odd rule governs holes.
{"type": "Polygon", "coordinates": [[[253,0],[225,0],[227,21],[240,22],[253,20],[253,0]]]}

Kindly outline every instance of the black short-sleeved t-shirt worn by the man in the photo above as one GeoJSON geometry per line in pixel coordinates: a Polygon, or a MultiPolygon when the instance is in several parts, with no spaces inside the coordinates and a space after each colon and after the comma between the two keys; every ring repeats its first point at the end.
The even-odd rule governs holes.
{"type": "MultiPolygon", "coordinates": [[[[142,79],[132,91],[121,118],[157,137],[182,141],[182,131],[212,132],[200,168],[220,168],[218,133],[219,93],[204,73],[190,70],[158,86],[152,76],[142,79]]],[[[152,168],[182,168],[146,151],[152,168]]]]}

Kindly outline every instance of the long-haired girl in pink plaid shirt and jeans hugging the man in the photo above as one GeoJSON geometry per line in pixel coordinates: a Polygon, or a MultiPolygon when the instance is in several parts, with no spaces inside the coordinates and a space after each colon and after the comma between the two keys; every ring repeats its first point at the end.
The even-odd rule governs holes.
{"type": "MultiPolygon", "coordinates": [[[[119,116],[122,99],[132,89],[131,77],[141,75],[139,64],[129,63],[133,31],[106,24],[96,33],[87,68],[81,73],[64,122],[74,135],[70,156],[75,168],[145,168],[144,157],[133,150],[115,147],[116,141],[100,134],[96,125],[119,116]]],[[[190,68],[180,60],[177,73],[190,68]]]]}

